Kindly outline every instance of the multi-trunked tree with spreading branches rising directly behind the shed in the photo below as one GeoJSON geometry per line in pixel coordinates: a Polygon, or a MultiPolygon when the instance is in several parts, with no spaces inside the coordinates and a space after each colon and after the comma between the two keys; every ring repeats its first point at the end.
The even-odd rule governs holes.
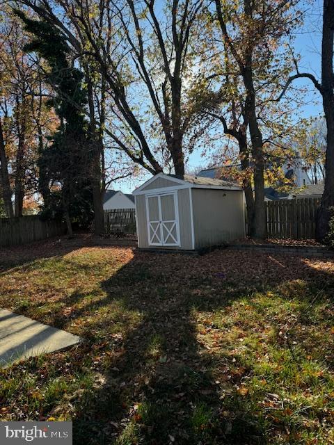
{"type": "Polygon", "coordinates": [[[186,94],[196,65],[191,42],[203,0],[169,0],[164,8],[154,0],[23,3],[56,26],[74,54],[95,60],[109,97],[105,133],[113,145],[152,174],[172,163],[182,175],[193,118],[186,94]]]}

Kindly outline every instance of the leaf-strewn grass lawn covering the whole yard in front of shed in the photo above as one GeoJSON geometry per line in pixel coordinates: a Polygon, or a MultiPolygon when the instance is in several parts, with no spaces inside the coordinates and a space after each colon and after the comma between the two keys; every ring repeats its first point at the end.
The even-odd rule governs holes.
{"type": "Polygon", "coordinates": [[[334,444],[334,261],[93,245],[0,252],[0,307],[86,339],[0,371],[1,420],[74,444],[334,444]]]}

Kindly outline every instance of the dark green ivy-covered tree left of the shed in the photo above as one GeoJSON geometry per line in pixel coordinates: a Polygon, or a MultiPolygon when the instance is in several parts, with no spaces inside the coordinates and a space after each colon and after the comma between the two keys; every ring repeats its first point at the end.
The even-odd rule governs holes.
{"type": "Polygon", "coordinates": [[[95,135],[88,131],[88,122],[81,111],[88,102],[84,74],[70,65],[67,43],[54,26],[29,19],[19,11],[16,13],[23,20],[26,31],[33,35],[25,46],[26,51],[36,52],[47,61],[47,81],[56,92],[53,104],[61,124],[51,147],[43,153],[40,166],[49,170],[49,180],[61,184],[63,212],[72,235],[70,218],[76,216],[74,209],[80,206],[89,209],[93,188],[90,167],[95,154],[95,135]]]}

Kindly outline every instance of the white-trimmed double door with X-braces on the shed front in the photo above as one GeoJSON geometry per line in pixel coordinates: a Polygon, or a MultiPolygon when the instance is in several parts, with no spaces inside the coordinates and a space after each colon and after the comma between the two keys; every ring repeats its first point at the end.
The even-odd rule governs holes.
{"type": "Polygon", "coordinates": [[[150,245],[180,245],[177,193],[146,196],[150,245]]]}

